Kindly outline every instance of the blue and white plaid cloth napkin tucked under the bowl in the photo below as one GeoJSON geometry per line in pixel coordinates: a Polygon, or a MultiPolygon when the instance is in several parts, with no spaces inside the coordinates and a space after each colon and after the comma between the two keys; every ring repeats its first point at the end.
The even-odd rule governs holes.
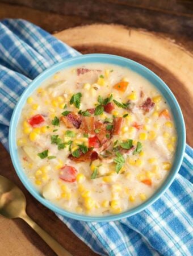
{"type": "MultiPolygon", "coordinates": [[[[7,150],[9,122],[20,94],[39,73],[79,54],[29,22],[0,22],[0,140],[7,150]]],[[[186,146],[173,184],[141,213],[108,223],[58,217],[100,255],[193,255],[192,156],[186,146]]]]}

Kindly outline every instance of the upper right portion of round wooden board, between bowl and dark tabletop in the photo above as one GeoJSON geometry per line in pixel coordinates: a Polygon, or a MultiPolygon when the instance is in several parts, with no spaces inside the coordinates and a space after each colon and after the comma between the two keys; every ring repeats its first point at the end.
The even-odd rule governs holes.
{"type": "Polygon", "coordinates": [[[193,55],[152,32],[120,25],[93,24],[54,34],[81,53],[111,53],[135,60],[161,77],[181,105],[187,143],[193,146],[193,55]]]}

